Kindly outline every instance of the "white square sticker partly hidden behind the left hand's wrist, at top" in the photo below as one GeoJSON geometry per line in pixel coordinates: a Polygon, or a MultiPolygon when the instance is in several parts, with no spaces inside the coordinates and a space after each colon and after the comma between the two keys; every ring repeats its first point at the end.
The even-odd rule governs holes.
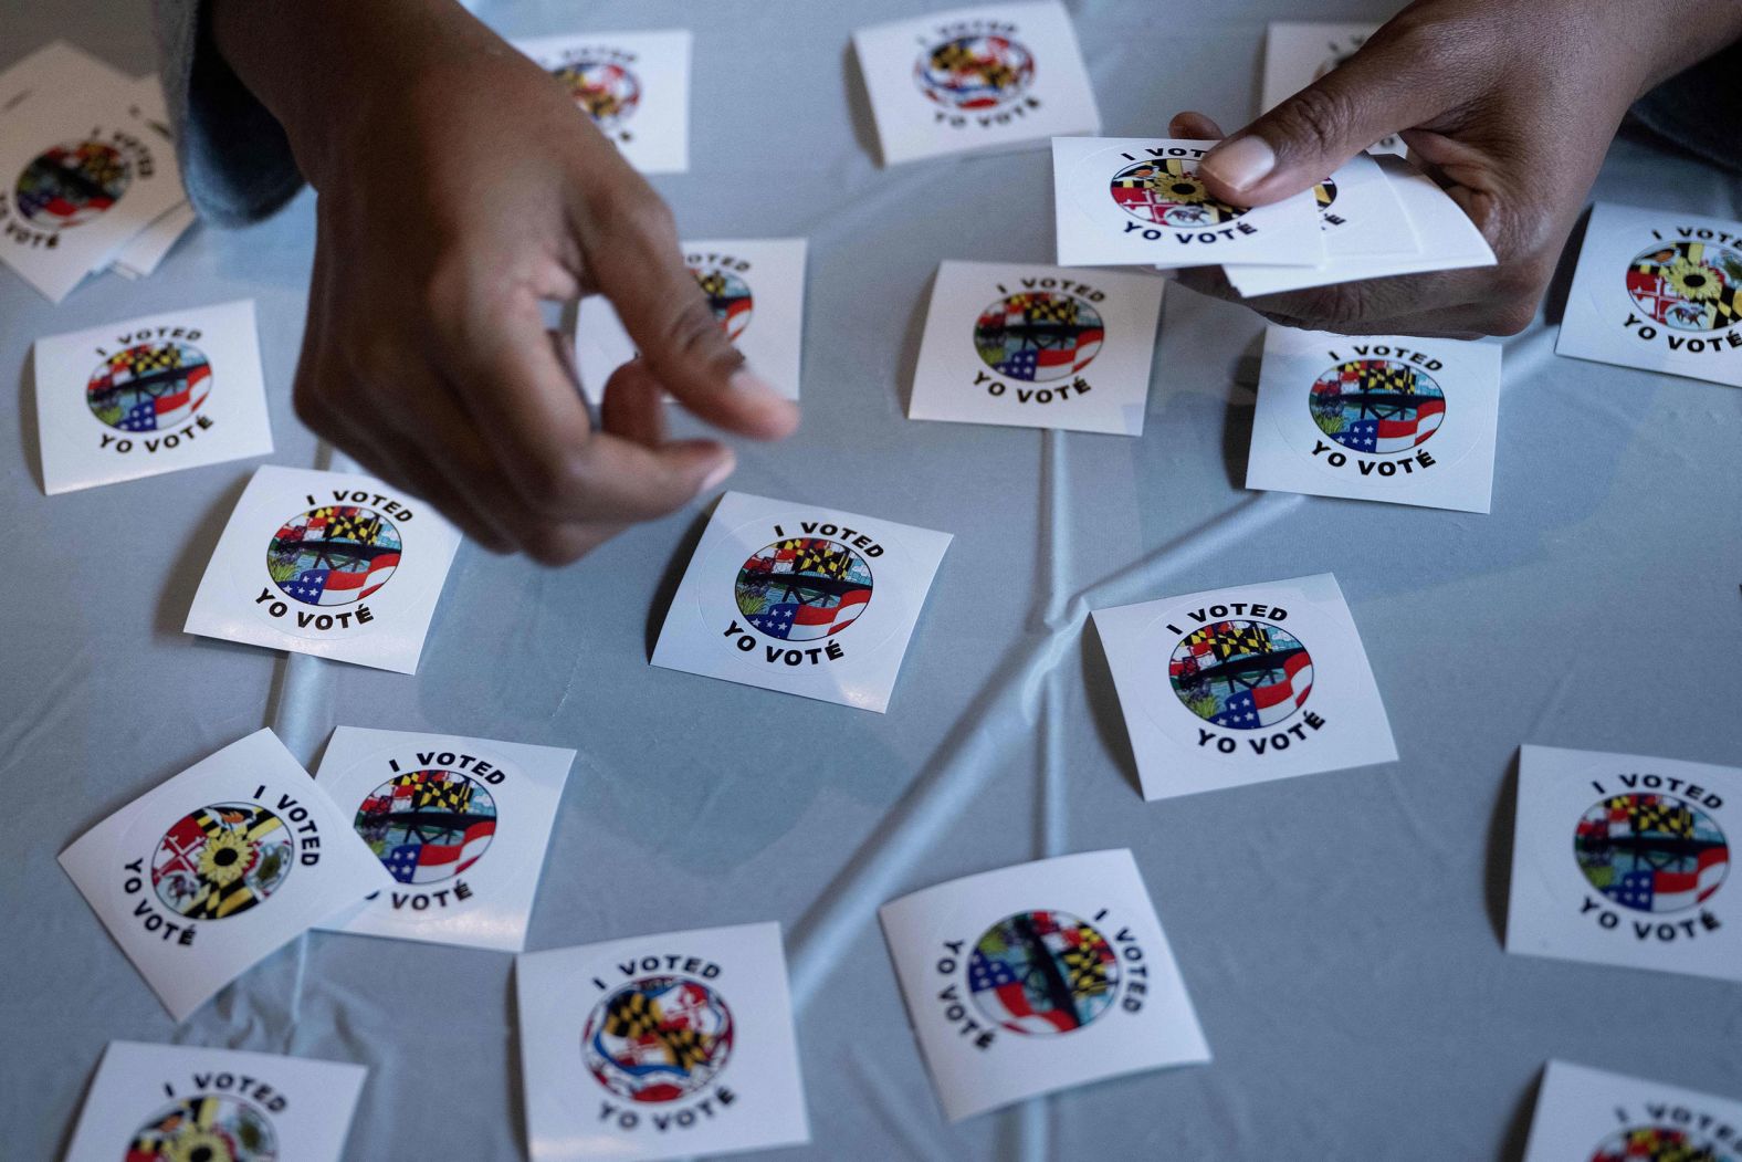
{"type": "Polygon", "coordinates": [[[690,169],[690,30],[516,40],[645,174],[690,169]]]}

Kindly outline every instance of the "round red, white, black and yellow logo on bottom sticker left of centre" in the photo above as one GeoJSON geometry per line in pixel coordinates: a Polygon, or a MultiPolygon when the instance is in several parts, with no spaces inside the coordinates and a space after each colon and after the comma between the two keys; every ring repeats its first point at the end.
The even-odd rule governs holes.
{"type": "Polygon", "coordinates": [[[714,990],[686,977],[648,976],[594,1005],[582,1052],[592,1077],[613,1094],[678,1101],[726,1068],[732,1033],[732,1010],[714,990]]]}

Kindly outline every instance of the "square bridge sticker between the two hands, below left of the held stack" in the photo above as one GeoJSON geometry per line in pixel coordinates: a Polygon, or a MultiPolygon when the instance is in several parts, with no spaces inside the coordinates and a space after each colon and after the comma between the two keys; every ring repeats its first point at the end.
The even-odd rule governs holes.
{"type": "Polygon", "coordinates": [[[1143,436],[1164,286],[1108,270],[942,263],[908,418],[1143,436]]]}

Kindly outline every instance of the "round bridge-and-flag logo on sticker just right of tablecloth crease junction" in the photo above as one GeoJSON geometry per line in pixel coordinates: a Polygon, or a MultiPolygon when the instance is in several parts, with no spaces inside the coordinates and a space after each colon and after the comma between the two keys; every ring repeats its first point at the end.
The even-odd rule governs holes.
{"type": "Polygon", "coordinates": [[[1179,639],[1167,679],[1188,711],[1218,726],[1259,730],[1312,693],[1312,655],[1270,622],[1214,622],[1179,639]]]}

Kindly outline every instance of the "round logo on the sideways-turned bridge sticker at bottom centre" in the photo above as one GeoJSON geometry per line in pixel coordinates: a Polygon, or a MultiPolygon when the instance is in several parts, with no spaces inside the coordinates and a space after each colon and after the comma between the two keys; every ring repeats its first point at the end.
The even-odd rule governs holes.
{"type": "Polygon", "coordinates": [[[1019,911],[986,929],[969,958],[969,990],[1014,1033],[1070,1033],[1113,1003],[1118,958],[1068,911],[1019,911]]]}

